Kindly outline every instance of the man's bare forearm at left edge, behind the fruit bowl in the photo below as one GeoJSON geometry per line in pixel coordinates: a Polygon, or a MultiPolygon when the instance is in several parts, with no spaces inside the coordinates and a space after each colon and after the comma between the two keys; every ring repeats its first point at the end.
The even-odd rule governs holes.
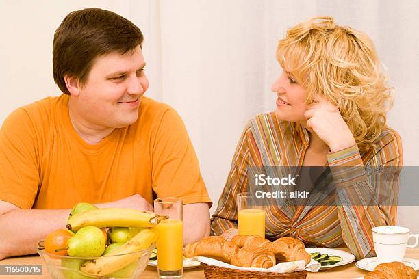
{"type": "Polygon", "coordinates": [[[65,228],[70,209],[15,209],[0,215],[0,259],[36,253],[36,242],[65,228]]]}

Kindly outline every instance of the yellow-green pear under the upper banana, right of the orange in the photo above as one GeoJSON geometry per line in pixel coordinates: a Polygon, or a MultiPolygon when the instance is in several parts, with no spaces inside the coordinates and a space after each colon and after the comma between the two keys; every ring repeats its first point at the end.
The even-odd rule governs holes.
{"type": "Polygon", "coordinates": [[[100,228],[85,226],[68,239],[69,256],[101,256],[105,251],[105,236],[100,228]]]}

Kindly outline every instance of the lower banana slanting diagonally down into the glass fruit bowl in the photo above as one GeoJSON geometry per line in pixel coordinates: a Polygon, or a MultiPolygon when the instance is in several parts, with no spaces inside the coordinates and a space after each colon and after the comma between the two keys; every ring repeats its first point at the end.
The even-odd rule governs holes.
{"type": "MultiPolygon", "coordinates": [[[[142,254],[132,253],[144,250],[157,241],[157,230],[154,228],[144,228],[135,237],[125,242],[106,256],[95,260],[86,261],[81,265],[80,270],[86,274],[105,276],[114,271],[122,269],[134,261],[137,261],[142,254]],[[131,254],[127,254],[131,253],[131,254]],[[122,254],[121,256],[115,256],[122,254]],[[112,256],[114,255],[114,256],[112,256]]],[[[147,258],[148,261],[148,258],[147,258]]]]}

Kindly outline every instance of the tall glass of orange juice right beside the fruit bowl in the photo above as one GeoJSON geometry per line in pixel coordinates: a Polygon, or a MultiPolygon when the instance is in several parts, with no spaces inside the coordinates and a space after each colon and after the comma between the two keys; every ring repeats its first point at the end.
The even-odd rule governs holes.
{"type": "Polygon", "coordinates": [[[156,198],[154,212],[169,218],[157,225],[159,278],[183,277],[183,204],[181,198],[156,198]]]}

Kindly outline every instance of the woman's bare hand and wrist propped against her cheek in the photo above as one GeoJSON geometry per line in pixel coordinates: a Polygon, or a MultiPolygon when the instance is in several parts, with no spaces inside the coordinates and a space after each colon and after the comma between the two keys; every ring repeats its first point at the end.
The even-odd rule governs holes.
{"type": "Polygon", "coordinates": [[[338,107],[321,96],[314,96],[314,103],[304,113],[307,127],[325,142],[331,152],[355,145],[355,138],[338,107]]]}

